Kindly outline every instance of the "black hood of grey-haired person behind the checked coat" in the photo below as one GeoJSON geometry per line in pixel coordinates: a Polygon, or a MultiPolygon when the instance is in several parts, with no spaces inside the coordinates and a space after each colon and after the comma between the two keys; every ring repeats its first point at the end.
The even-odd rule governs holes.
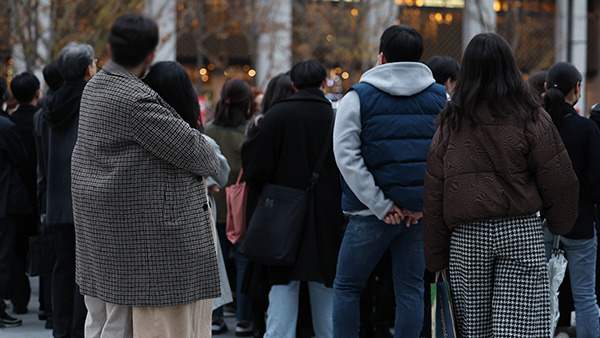
{"type": "Polygon", "coordinates": [[[83,79],[65,82],[60,89],[46,100],[44,103],[44,119],[48,121],[51,127],[60,126],[79,114],[79,104],[85,84],[86,82],[83,79]]]}

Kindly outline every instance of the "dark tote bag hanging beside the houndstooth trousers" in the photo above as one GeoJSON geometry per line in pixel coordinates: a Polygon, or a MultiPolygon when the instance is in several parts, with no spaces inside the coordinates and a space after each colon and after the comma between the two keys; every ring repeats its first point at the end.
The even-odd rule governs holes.
{"type": "Polygon", "coordinates": [[[450,284],[445,272],[436,272],[435,282],[431,283],[431,337],[456,338],[450,284]],[[442,281],[438,282],[440,275],[442,281]]]}

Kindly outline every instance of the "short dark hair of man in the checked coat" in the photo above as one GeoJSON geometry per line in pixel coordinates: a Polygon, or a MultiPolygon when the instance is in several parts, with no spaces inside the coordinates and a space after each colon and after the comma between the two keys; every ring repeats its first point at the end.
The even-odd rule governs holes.
{"type": "Polygon", "coordinates": [[[139,14],[120,16],[110,29],[108,43],[114,62],[135,67],[158,45],[158,25],[139,14]]]}

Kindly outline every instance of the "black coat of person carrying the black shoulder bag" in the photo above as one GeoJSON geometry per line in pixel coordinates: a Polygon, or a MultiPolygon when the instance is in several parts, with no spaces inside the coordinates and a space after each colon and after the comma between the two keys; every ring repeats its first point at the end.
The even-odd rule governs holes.
{"type": "MultiPolygon", "coordinates": [[[[300,90],[274,105],[242,148],[244,177],[251,190],[259,192],[266,183],[307,188],[326,137],[332,137],[333,118],[331,103],[318,89],[300,90]]],[[[333,284],[343,215],[339,171],[331,145],[314,196],[309,207],[315,217],[306,222],[296,263],[292,267],[269,267],[271,284],[291,280],[333,284]]],[[[253,204],[252,198],[249,203],[253,204]]]]}

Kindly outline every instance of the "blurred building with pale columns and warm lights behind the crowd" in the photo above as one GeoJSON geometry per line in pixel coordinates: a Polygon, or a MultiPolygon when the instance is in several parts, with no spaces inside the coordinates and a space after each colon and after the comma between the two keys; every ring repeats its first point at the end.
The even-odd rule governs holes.
{"type": "Polygon", "coordinates": [[[329,69],[335,101],[375,64],[379,36],[393,23],[421,32],[422,61],[460,62],[473,35],[495,31],[525,77],[569,61],[585,74],[580,111],[600,101],[600,0],[5,0],[0,75],[39,73],[73,40],[92,44],[102,65],[108,30],[128,12],[159,22],[158,58],[181,62],[209,108],[227,79],[264,89],[307,58],[329,69]]]}

